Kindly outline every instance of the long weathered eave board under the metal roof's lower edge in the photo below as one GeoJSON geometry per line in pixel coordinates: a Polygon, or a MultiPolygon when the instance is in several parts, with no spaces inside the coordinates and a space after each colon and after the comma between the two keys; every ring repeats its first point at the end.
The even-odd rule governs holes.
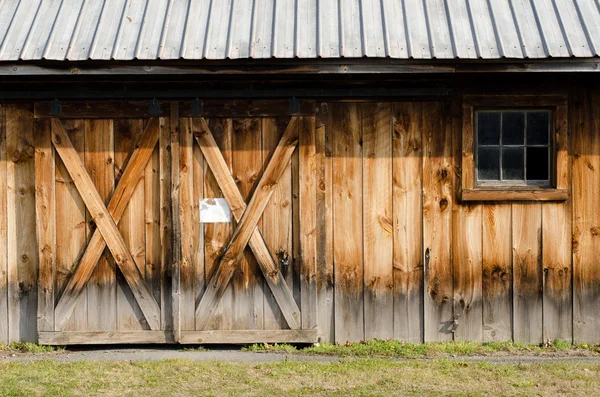
{"type": "Polygon", "coordinates": [[[2,76],[40,75],[366,75],[600,72],[600,58],[541,60],[267,59],[227,61],[0,62],[2,76]]]}

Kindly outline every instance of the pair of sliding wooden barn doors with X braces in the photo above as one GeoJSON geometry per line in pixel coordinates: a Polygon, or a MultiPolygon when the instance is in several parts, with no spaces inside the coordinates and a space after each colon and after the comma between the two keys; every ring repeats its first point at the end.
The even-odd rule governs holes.
{"type": "Polygon", "coordinates": [[[196,105],[35,104],[40,343],[316,340],[314,115],[196,105]]]}

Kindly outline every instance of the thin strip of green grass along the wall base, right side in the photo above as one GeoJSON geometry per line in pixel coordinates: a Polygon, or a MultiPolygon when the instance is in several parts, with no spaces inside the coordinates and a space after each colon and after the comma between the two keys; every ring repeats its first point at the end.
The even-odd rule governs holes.
{"type": "Polygon", "coordinates": [[[542,354],[567,351],[590,351],[600,353],[600,346],[572,345],[569,342],[555,341],[547,346],[525,345],[513,342],[444,342],[444,343],[405,343],[400,341],[369,340],[340,344],[319,344],[298,348],[289,344],[255,344],[245,347],[253,352],[281,352],[288,354],[312,354],[341,357],[443,357],[508,354],[542,354]]]}

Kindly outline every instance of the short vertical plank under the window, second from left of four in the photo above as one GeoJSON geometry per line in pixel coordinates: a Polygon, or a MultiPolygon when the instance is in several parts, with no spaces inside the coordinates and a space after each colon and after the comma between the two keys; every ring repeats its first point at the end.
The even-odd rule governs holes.
{"type": "Polygon", "coordinates": [[[512,341],[510,204],[483,206],[483,339],[512,341]]]}

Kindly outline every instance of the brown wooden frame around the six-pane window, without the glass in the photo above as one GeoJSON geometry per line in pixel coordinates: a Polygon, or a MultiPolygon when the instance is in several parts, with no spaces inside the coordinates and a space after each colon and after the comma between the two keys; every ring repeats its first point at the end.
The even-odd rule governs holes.
{"type": "Polygon", "coordinates": [[[569,198],[569,145],[567,97],[565,95],[465,95],[463,96],[462,178],[463,201],[564,201],[569,198]],[[478,110],[549,110],[549,185],[516,184],[510,181],[477,180],[478,110]],[[498,183],[500,182],[500,183],[498,183]],[[508,183],[507,183],[508,182],[508,183]]]}

